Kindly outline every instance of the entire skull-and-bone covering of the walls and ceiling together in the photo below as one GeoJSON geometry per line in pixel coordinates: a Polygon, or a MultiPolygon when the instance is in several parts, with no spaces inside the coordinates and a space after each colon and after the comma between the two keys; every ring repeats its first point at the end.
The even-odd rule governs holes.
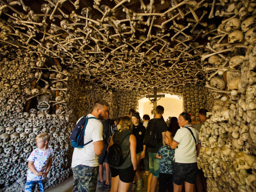
{"type": "Polygon", "coordinates": [[[39,12],[23,0],[0,2],[0,190],[23,187],[25,160],[42,131],[51,134],[57,157],[46,187],[67,178],[78,117],[100,98],[112,118],[125,115],[155,85],[158,93],[180,95],[184,110],[209,109],[197,160],[207,190],[256,190],[256,3],[143,1],[138,11],[129,0],[110,7],[45,0],[39,12]],[[77,10],[61,9],[69,5],[77,10]],[[63,68],[45,64],[48,57],[63,68]],[[49,110],[37,110],[44,100],[49,110]]]}

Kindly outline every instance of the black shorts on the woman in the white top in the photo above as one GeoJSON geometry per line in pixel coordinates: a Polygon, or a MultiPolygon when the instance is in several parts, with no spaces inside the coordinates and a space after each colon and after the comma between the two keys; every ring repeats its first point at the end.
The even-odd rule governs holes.
{"type": "Polygon", "coordinates": [[[181,185],[184,181],[195,184],[196,174],[197,174],[197,163],[179,163],[174,162],[173,164],[173,174],[172,181],[181,185]]]}

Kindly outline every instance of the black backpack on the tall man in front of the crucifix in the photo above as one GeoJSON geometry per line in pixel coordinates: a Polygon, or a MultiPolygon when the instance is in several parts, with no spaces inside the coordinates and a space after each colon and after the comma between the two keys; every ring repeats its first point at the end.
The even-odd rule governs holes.
{"type": "Polygon", "coordinates": [[[152,119],[148,121],[144,136],[144,144],[148,147],[155,148],[159,143],[157,122],[152,119]]]}

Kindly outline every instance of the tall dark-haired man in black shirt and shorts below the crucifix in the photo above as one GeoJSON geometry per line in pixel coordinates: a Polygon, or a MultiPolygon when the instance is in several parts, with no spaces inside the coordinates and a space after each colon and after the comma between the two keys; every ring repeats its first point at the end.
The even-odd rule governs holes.
{"type": "MultiPolygon", "coordinates": [[[[167,124],[164,120],[161,119],[163,114],[164,108],[161,105],[156,106],[155,108],[155,117],[150,119],[150,121],[155,122],[156,129],[158,131],[159,140],[156,147],[147,147],[147,152],[149,156],[149,175],[147,180],[147,188],[150,187],[150,192],[155,191],[157,178],[159,177],[159,166],[160,166],[160,159],[156,158],[156,153],[161,146],[165,146],[164,136],[165,131],[167,131],[167,124]]],[[[150,122],[149,121],[149,122],[150,122]]],[[[149,190],[147,190],[149,191],[149,190]]]]}

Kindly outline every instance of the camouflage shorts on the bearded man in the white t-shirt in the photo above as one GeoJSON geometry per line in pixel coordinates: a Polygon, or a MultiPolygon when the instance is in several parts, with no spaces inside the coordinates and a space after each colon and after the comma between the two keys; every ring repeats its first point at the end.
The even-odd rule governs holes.
{"type": "Polygon", "coordinates": [[[79,192],[96,191],[98,166],[86,166],[77,165],[72,167],[74,184],[73,188],[76,188],[79,192]]]}

